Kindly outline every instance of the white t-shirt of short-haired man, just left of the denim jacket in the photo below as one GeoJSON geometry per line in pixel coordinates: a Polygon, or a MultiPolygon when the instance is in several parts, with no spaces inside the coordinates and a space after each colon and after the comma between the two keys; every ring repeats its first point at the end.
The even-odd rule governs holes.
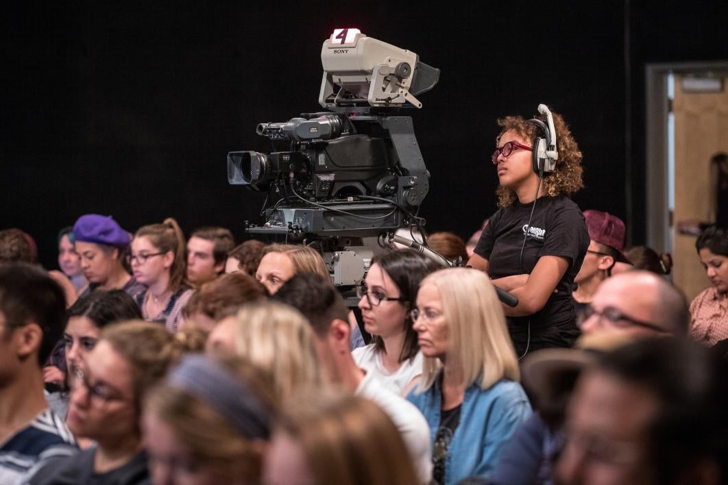
{"type": "Polygon", "coordinates": [[[427,425],[427,420],[419,409],[402,396],[384,388],[381,381],[370,372],[367,372],[364,380],[359,383],[355,394],[372,401],[389,416],[402,435],[420,481],[422,484],[430,483],[432,480],[430,426],[427,425]]]}

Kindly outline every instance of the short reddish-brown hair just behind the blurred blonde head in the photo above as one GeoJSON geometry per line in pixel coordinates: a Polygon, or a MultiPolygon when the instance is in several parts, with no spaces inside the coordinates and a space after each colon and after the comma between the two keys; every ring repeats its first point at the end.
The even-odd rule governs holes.
{"type": "Polygon", "coordinates": [[[245,303],[264,300],[268,296],[265,286],[245,273],[230,273],[208,281],[197,290],[183,310],[184,325],[196,326],[207,332],[231,312],[237,312],[245,303]]]}

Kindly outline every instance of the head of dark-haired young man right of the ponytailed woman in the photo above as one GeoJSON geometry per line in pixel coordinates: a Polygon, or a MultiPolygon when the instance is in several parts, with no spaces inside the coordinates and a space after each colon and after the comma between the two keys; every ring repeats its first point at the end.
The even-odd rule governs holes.
{"type": "Polygon", "coordinates": [[[226,228],[199,228],[187,241],[187,281],[202,286],[225,270],[228,252],[235,246],[226,228]]]}

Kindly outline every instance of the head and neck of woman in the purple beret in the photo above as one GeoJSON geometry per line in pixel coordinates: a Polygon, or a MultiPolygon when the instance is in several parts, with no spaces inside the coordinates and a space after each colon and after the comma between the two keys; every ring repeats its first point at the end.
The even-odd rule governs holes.
{"type": "Polygon", "coordinates": [[[123,265],[130,242],[130,234],[111,217],[87,214],[76,220],[74,247],[89,281],[79,297],[97,289],[123,289],[132,297],[144,290],[144,285],[132,278],[123,265]]]}

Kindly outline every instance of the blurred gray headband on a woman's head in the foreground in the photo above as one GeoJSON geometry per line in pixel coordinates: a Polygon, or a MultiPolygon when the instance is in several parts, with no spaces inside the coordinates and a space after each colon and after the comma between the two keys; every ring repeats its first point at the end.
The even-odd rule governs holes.
{"type": "Polygon", "coordinates": [[[269,438],[268,410],[247,385],[210,358],[186,356],[167,382],[209,404],[245,438],[269,438]]]}

